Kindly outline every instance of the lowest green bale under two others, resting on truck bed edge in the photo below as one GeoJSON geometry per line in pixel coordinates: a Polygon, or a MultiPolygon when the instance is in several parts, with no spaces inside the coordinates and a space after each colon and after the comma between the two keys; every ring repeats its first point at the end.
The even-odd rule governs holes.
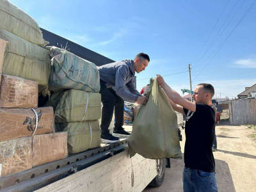
{"type": "Polygon", "coordinates": [[[99,147],[100,126],[98,120],[55,124],[57,131],[68,132],[68,153],[75,154],[99,147]]]}

